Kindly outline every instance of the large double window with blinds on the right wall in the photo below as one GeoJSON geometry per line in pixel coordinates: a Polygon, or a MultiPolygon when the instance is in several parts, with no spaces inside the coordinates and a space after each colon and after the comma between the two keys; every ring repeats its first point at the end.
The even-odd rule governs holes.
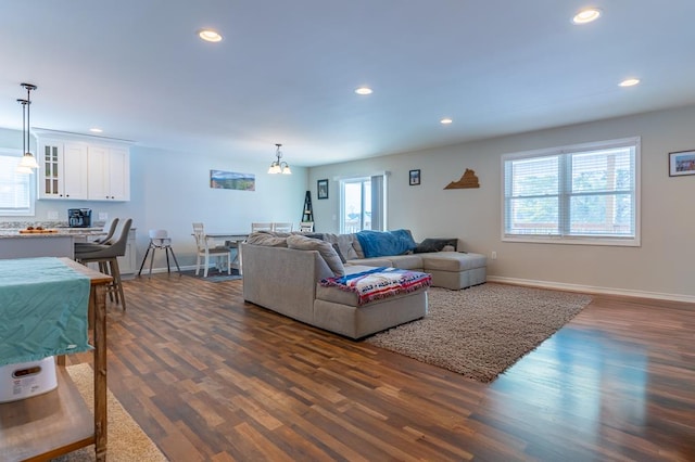
{"type": "Polygon", "coordinates": [[[640,245],[640,139],[508,154],[503,240],[640,245]]]}

